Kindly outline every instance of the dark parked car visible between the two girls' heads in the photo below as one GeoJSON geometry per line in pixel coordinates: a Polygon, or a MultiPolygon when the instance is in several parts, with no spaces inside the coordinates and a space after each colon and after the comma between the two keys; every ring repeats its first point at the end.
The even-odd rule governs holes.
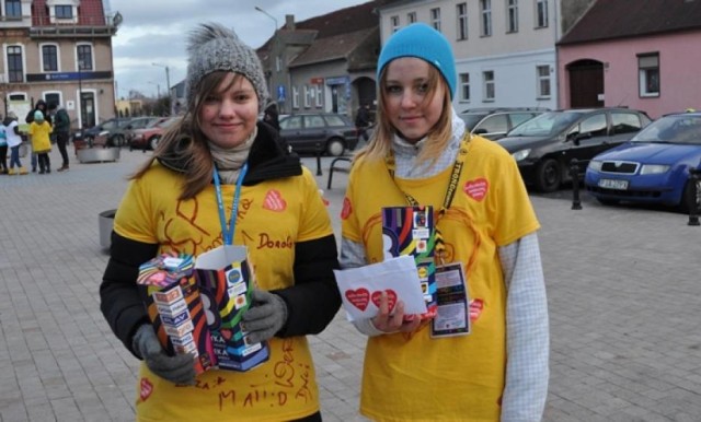
{"type": "Polygon", "coordinates": [[[358,144],[358,131],[347,116],[299,114],[280,119],[280,136],[294,151],[343,155],[358,144]]]}

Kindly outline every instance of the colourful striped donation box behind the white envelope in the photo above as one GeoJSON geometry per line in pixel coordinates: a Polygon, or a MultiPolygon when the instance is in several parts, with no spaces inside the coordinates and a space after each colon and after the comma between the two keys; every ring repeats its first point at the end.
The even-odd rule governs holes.
{"type": "Polygon", "coordinates": [[[409,255],[414,257],[421,289],[426,302],[422,319],[436,316],[436,225],[433,208],[387,207],[382,209],[382,246],[384,259],[409,255]]]}

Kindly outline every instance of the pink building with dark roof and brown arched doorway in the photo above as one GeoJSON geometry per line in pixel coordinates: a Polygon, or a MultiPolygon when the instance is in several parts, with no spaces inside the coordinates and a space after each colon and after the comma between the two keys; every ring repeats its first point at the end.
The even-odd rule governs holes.
{"type": "Polygon", "coordinates": [[[559,105],[701,109],[701,1],[597,0],[558,43],[559,105]]]}

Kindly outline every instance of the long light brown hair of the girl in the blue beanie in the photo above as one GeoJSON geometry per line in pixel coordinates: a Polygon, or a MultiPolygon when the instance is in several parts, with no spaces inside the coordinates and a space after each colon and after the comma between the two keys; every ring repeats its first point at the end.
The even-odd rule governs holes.
{"type": "MultiPolygon", "coordinates": [[[[390,119],[386,117],[388,116],[388,112],[384,93],[387,91],[388,68],[389,65],[382,70],[382,73],[380,74],[380,82],[378,84],[378,109],[376,120],[378,124],[375,127],[375,131],[372,132],[372,137],[370,138],[368,145],[357,152],[355,156],[356,159],[365,155],[367,156],[367,160],[371,161],[384,160],[392,148],[392,138],[394,137],[394,133],[397,133],[397,129],[392,126],[390,119]]],[[[438,84],[443,84],[445,95],[440,118],[436,125],[428,130],[428,133],[426,133],[428,139],[418,154],[420,162],[435,162],[438,160],[443,151],[448,146],[452,136],[452,103],[450,101],[450,87],[446,81],[444,81],[440,72],[433,66],[428,67],[427,84],[428,90],[424,97],[424,104],[433,101],[434,95],[436,95],[438,91],[438,84]]]]}

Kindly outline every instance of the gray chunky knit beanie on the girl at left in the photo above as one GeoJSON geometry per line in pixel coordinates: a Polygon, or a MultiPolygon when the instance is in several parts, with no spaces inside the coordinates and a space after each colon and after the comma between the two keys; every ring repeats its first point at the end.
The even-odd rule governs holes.
{"type": "Polygon", "coordinates": [[[241,73],[251,81],[258,96],[258,112],[263,112],[268,94],[261,60],[233,31],[218,23],[200,24],[189,35],[187,54],[185,95],[191,109],[195,105],[199,82],[209,73],[223,70],[241,73]]]}

